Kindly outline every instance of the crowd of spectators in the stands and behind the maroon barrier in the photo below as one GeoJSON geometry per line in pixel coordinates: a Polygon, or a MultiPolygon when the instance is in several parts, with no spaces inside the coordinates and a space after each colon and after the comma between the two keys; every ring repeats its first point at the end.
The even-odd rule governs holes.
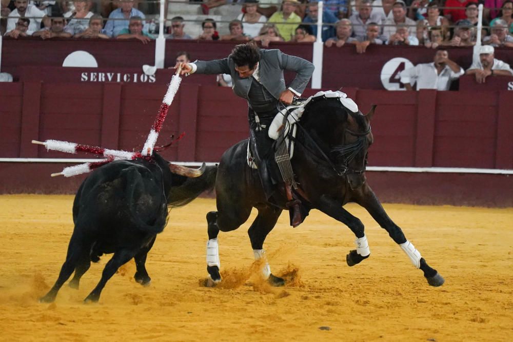
{"type": "MultiPolygon", "coordinates": [[[[307,0],[265,0],[265,4],[259,0],[190,0],[201,5],[205,16],[212,8],[234,3],[241,5],[241,13],[236,17],[223,17],[224,22],[229,22],[229,32],[223,34],[218,32],[218,23],[213,18],[204,17],[202,32],[194,37],[187,33],[182,16],[168,17],[165,36],[200,41],[254,40],[264,47],[271,42],[312,43],[317,39],[317,20],[322,15],[320,36],[328,48],[350,44],[358,53],[364,53],[371,44],[422,45],[438,49],[433,63],[403,71],[401,80],[408,85],[416,81],[418,89],[446,90],[463,70],[449,59],[444,46],[476,45],[479,36],[477,1],[485,7],[483,47],[479,63],[473,64],[467,73],[475,75],[476,81],[482,83],[489,75],[513,74],[507,64],[494,57],[494,47],[513,48],[513,0],[327,0],[322,13],[319,13],[317,1],[307,0]]],[[[136,8],[135,0],[1,2],[2,17],[7,17],[4,35],[11,38],[30,35],[42,39],[134,38],[147,44],[158,33],[155,23],[136,8]]],[[[190,56],[183,52],[177,61],[179,58],[189,60],[190,56]]],[[[230,82],[226,75],[218,75],[220,85],[230,85],[230,82]]]]}

